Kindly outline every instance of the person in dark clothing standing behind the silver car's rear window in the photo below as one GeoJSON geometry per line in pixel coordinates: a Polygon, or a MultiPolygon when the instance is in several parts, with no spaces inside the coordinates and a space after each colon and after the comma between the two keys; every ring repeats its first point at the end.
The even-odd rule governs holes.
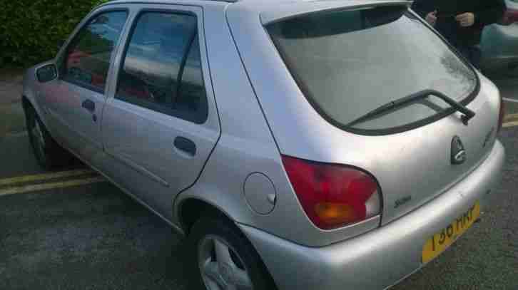
{"type": "Polygon", "coordinates": [[[482,29],[502,19],[505,4],[504,0],[415,0],[412,9],[479,68],[482,29]]]}

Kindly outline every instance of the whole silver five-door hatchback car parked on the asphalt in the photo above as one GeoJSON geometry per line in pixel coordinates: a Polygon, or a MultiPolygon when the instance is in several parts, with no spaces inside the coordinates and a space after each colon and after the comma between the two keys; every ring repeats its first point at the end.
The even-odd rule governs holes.
{"type": "Polygon", "coordinates": [[[186,235],[201,289],[385,289],[504,162],[499,91],[408,3],[98,6],[26,73],[36,157],[72,152],[186,235]]]}

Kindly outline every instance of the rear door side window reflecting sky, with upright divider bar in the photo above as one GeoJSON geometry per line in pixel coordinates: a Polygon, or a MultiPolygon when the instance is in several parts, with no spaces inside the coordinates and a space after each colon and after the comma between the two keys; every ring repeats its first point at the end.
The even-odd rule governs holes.
{"type": "Polygon", "coordinates": [[[195,16],[145,12],[138,17],[116,98],[195,123],[206,120],[195,16]]]}

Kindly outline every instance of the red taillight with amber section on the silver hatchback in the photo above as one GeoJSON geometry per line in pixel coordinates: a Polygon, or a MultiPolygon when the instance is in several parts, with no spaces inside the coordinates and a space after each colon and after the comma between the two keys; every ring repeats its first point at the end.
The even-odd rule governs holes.
{"type": "Polygon", "coordinates": [[[367,173],[289,156],[283,156],[283,164],[305,213],[320,229],[335,229],[380,214],[380,189],[367,173]]]}

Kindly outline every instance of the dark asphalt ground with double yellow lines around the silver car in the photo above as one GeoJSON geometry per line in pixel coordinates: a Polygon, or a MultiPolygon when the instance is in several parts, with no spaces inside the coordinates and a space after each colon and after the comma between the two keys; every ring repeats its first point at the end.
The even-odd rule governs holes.
{"type": "MultiPolygon", "coordinates": [[[[20,81],[0,79],[0,289],[189,289],[185,245],[168,224],[79,162],[62,172],[36,165],[20,81]]],[[[518,78],[495,82],[509,102],[492,204],[395,290],[518,289],[518,78]]]]}

